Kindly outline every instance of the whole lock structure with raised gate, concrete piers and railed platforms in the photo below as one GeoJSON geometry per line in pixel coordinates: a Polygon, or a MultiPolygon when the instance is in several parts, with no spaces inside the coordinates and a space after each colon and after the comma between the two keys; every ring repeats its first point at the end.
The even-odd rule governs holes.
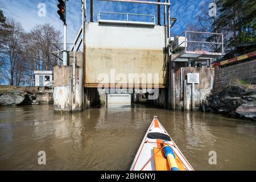
{"type": "MultiPolygon", "coordinates": [[[[95,22],[90,1],[88,22],[82,5],[82,26],[67,51],[68,63],[53,71],[55,110],[82,110],[104,103],[108,106],[108,102],[127,104],[127,100],[150,107],[193,110],[210,92],[210,65],[212,59],[223,54],[222,34],[185,31],[172,37],[170,30],[177,19],[170,18],[170,1],[127,2],[154,4],[157,17],[97,12],[95,22]],[[163,6],[162,12],[159,6],[163,6]],[[216,37],[214,42],[209,42],[210,37],[216,37]],[[213,52],[209,44],[219,46],[220,51],[213,52]],[[188,73],[203,82],[192,84],[188,73]]],[[[54,53],[63,52],[59,48],[54,53]]]]}

